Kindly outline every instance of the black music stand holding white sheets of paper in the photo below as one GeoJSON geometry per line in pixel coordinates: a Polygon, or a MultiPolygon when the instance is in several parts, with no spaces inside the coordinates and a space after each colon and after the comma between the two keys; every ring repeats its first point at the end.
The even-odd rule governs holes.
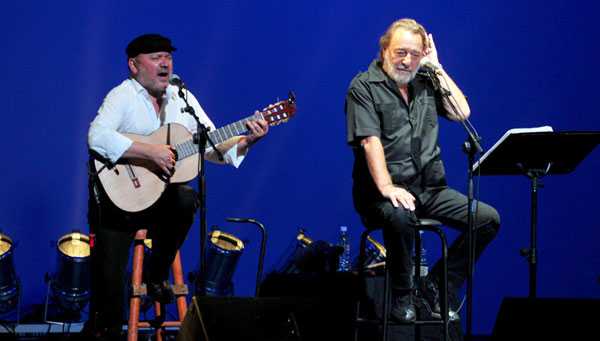
{"type": "Polygon", "coordinates": [[[525,175],[531,180],[531,248],[521,250],[529,262],[529,298],[536,296],[538,181],[545,175],[570,173],[600,143],[600,132],[544,128],[509,130],[473,167],[475,174],[525,175]]]}

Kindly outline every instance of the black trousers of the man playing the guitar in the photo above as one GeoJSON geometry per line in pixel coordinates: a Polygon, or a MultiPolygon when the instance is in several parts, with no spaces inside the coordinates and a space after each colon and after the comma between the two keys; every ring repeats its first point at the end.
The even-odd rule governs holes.
{"type": "Polygon", "coordinates": [[[186,185],[169,185],[156,203],[136,213],[120,210],[105,196],[101,197],[100,205],[90,199],[88,222],[95,243],[91,254],[88,321],[93,326],[88,328],[110,333],[122,327],[127,264],[135,233],[147,229],[147,238],[152,239],[152,257],[144,269],[144,280],[166,280],[198,206],[196,191],[186,185]]]}

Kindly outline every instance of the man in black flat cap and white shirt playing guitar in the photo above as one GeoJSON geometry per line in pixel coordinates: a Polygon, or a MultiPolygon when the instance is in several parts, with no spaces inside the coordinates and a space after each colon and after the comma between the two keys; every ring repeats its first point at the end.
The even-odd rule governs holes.
{"type": "MultiPolygon", "coordinates": [[[[192,133],[197,131],[195,119],[181,111],[185,102],[178,96],[179,89],[169,84],[173,73],[171,52],[176,50],[169,39],[158,34],[145,34],[129,43],[125,52],[130,75],[108,93],[90,125],[88,147],[95,156],[112,164],[122,159],[149,160],[166,177],[175,173],[172,146],[134,141],[122,133],[151,135],[168,123],[181,124],[192,133]]],[[[200,122],[214,130],[214,124],[189,92],[187,101],[200,122]]],[[[238,167],[248,148],[267,133],[268,124],[264,120],[249,122],[248,130],[248,135],[233,137],[217,146],[223,161],[211,148],[207,149],[207,160],[238,167]]],[[[169,184],[156,203],[132,213],[113,204],[100,184],[91,183],[94,185],[100,204],[90,191],[88,222],[90,232],[95,234],[95,245],[90,317],[83,334],[93,340],[118,340],[124,322],[125,274],[136,231],[147,229],[148,238],[153,241],[152,257],[144,269],[148,292],[157,301],[171,303],[174,295],[166,280],[177,250],[194,222],[199,200],[192,187],[169,184]]]]}

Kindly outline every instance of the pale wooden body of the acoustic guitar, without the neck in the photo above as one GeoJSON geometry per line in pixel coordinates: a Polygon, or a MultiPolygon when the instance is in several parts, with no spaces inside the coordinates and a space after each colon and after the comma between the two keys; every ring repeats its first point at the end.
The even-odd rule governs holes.
{"type": "MultiPolygon", "coordinates": [[[[137,142],[172,146],[193,138],[186,127],[176,123],[164,125],[148,136],[123,135],[137,142]]],[[[198,176],[198,157],[196,153],[178,160],[171,178],[166,177],[154,162],[144,159],[120,160],[111,167],[104,167],[102,161],[94,160],[94,166],[110,200],[124,211],[138,212],[156,202],[169,183],[186,183],[198,176]]]]}

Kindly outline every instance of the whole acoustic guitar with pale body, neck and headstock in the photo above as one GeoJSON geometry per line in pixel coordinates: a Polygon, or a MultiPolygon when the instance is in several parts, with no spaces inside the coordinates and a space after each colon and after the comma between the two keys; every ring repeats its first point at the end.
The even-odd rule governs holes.
{"type": "MultiPolygon", "coordinates": [[[[294,94],[288,101],[281,101],[263,109],[259,114],[209,131],[209,138],[218,145],[227,139],[247,132],[247,123],[259,119],[271,126],[287,122],[296,112],[294,94]]],[[[198,176],[198,145],[193,143],[192,133],[177,123],[160,127],[151,135],[122,133],[133,141],[148,144],[170,145],[175,148],[177,163],[175,174],[167,177],[152,161],[122,159],[116,165],[94,159],[94,171],[109,199],[117,207],[128,212],[139,212],[150,207],[162,195],[170,183],[186,183],[198,176]]]]}

